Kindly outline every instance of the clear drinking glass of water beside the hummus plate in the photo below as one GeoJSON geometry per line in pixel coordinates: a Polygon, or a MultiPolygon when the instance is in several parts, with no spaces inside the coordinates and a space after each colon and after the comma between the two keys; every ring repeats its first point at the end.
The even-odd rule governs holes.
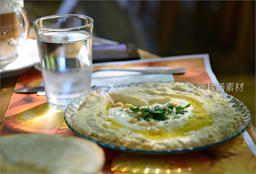
{"type": "Polygon", "coordinates": [[[64,110],[91,90],[93,19],[46,16],[33,22],[48,104],[64,110]]]}

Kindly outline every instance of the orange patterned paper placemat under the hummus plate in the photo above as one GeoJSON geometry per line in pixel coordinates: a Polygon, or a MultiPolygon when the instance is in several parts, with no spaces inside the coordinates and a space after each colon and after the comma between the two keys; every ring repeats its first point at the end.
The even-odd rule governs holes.
{"type": "MultiPolygon", "coordinates": [[[[174,75],[175,81],[216,82],[208,55],[95,64],[93,68],[180,65],[187,72],[174,75]]],[[[38,86],[41,81],[41,72],[30,70],[20,75],[15,89],[38,86]]],[[[45,96],[13,93],[0,133],[1,136],[21,132],[76,136],[66,125],[63,114],[64,111],[50,108],[45,96]]],[[[141,155],[108,148],[104,151],[104,173],[255,173],[255,156],[243,136],[187,154],[141,155]]]]}

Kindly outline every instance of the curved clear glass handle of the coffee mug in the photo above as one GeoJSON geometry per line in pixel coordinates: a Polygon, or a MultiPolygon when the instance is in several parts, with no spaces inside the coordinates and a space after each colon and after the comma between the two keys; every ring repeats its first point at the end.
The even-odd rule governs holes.
{"type": "Polygon", "coordinates": [[[17,15],[20,22],[20,36],[18,39],[10,39],[8,41],[9,45],[16,46],[22,45],[28,38],[29,33],[29,20],[27,17],[27,13],[24,8],[21,7],[20,4],[14,1],[7,1],[5,4],[7,8],[11,8],[17,15]]]}

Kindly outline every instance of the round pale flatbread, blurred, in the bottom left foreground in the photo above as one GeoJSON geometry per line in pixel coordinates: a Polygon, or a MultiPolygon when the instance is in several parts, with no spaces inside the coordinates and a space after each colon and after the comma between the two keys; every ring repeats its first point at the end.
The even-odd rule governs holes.
{"type": "Polygon", "coordinates": [[[104,152],[79,137],[15,134],[0,138],[1,173],[97,173],[104,152]]]}

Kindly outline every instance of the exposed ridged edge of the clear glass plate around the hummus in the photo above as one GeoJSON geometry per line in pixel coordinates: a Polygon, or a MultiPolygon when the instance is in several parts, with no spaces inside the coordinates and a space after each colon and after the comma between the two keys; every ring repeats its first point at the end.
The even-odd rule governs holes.
{"type": "MultiPolygon", "coordinates": [[[[116,85],[113,85],[113,86],[108,86],[108,87],[102,87],[102,88],[99,88],[99,89],[94,89],[91,92],[94,93],[94,94],[97,94],[97,95],[106,96],[106,97],[111,99],[111,97],[108,95],[108,92],[111,92],[111,91],[114,91],[114,90],[118,90],[118,89],[127,88],[127,87],[135,87],[135,86],[138,86],[140,84],[142,84],[142,83],[116,84],[116,85]]],[[[92,140],[93,142],[95,142],[95,143],[97,143],[97,144],[99,144],[99,145],[101,145],[103,147],[112,148],[112,149],[121,150],[121,151],[126,151],[126,152],[144,153],[144,154],[186,153],[186,152],[190,152],[190,151],[195,151],[195,150],[201,150],[201,149],[204,149],[204,148],[209,148],[209,147],[212,147],[212,146],[224,143],[226,141],[229,141],[229,140],[239,136],[241,133],[243,133],[245,131],[245,129],[250,124],[251,114],[250,114],[249,110],[247,109],[247,107],[242,102],[240,102],[238,99],[234,98],[232,95],[228,95],[225,92],[219,92],[219,91],[216,91],[216,92],[218,92],[223,97],[224,100],[228,100],[229,101],[229,106],[232,106],[237,112],[239,112],[239,113],[244,115],[243,119],[244,119],[245,124],[238,125],[237,128],[236,128],[236,132],[226,136],[223,140],[220,140],[220,141],[212,143],[212,144],[207,144],[207,145],[204,145],[204,146],[190,147],[190,148],[184,148],[184,149],[175,149],[175,150],[161,150],[161,151],[157,151],[157,150],[138,150],[138,149],[132,149],[132,148],[118,147],[118,146],[114,146],[114,145],[111,145],[111,144],[105,144],[103,142],[96,141],[96,140],[93,140],[91,138],[88,138],[88,137],[80,134],[79,132],[77,132],[72,127],[72,125],[70,124],[71,123],[70,116],[71,116],[71,114],[73,112],[78,110],[80,104],[84,102],[84,99],[88,95],[90,95],[89,94],[90,92],[85,93],[84,95],[81,95],[80,97],[78,97],[74,101],[72,101],[68,105],[67,109],[65,110],[64,118],[65,118],[65,121],[66,121],[68,127],[73,132],[75,132],[78,136],[80,136],[80,137],[82,137],[84,139],[87,139],[87,140],[92,140]]]]}

